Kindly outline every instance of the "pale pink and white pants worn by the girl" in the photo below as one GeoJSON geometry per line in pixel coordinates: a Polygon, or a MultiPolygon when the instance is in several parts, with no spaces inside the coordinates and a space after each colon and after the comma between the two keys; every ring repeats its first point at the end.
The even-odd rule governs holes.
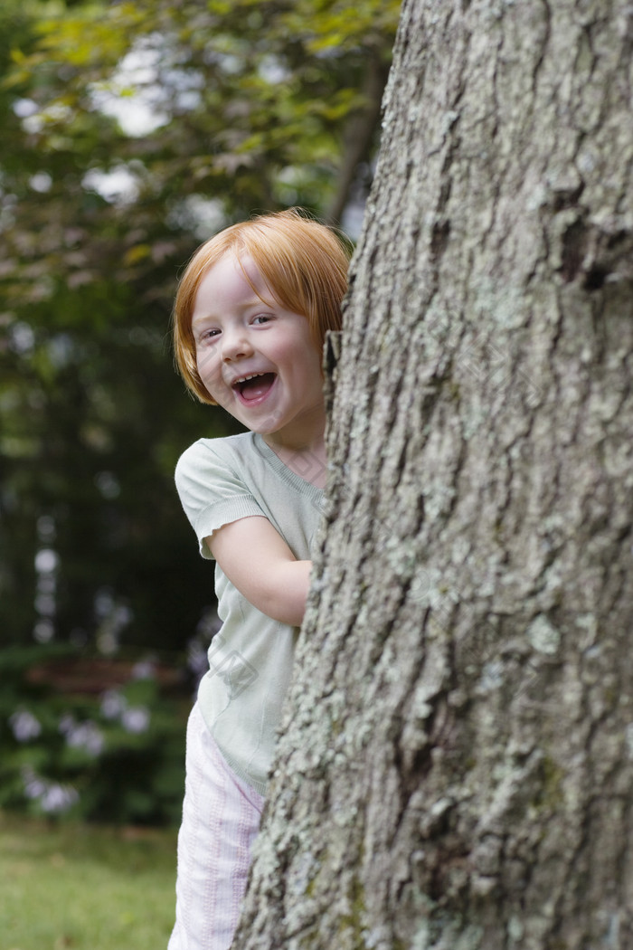
{"type": "Polygon", "coordinates": [[[168,950],[229,950],[264,799],[237,778],[197,704],[187,727],[176,926],[168,950]]]}

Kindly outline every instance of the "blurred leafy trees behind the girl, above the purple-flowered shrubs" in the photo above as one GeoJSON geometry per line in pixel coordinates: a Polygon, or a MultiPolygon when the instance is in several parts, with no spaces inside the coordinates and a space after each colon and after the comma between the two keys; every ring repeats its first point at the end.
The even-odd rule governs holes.
{"type": "Polygon", "coordinates": [[[397,16],[393,0],[3,4],[0,645],[118,623],[117,643],[180,649],[213,605],[173,470],[235,428],[174,373],[177,274],[253,211],[327,214],[397,16]]]}

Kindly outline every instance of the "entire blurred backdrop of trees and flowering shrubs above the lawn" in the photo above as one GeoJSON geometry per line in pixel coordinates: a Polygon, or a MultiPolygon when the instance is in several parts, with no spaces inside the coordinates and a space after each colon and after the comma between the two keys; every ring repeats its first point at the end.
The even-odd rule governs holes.
{"type": "Polygon", "coordinates": [[[358,236],[393,0],[3,0],[0,808],[177,822],[216,629],[178,455],[235,431],[173,367],[206,237],[302,205],[358,236]]]}

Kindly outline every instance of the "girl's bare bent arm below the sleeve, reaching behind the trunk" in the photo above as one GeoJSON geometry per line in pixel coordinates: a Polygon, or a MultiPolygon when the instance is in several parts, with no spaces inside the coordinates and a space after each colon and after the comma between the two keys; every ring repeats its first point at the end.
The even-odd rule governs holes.
{"type": "Polygon", "coordinates": [[[251,515],[206,539],[228,579],[267,617],[300,627],[312,561],[297,561],[268,518],[251,515]]]}

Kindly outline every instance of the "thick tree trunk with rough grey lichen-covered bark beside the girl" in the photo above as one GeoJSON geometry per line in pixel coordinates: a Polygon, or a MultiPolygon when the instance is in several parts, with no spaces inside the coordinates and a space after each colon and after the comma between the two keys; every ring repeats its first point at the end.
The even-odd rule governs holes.
{"type": "Polygon", "coordinates": [[[239,950],[633,947],[632,36],[404,0],[239,950]]]}

